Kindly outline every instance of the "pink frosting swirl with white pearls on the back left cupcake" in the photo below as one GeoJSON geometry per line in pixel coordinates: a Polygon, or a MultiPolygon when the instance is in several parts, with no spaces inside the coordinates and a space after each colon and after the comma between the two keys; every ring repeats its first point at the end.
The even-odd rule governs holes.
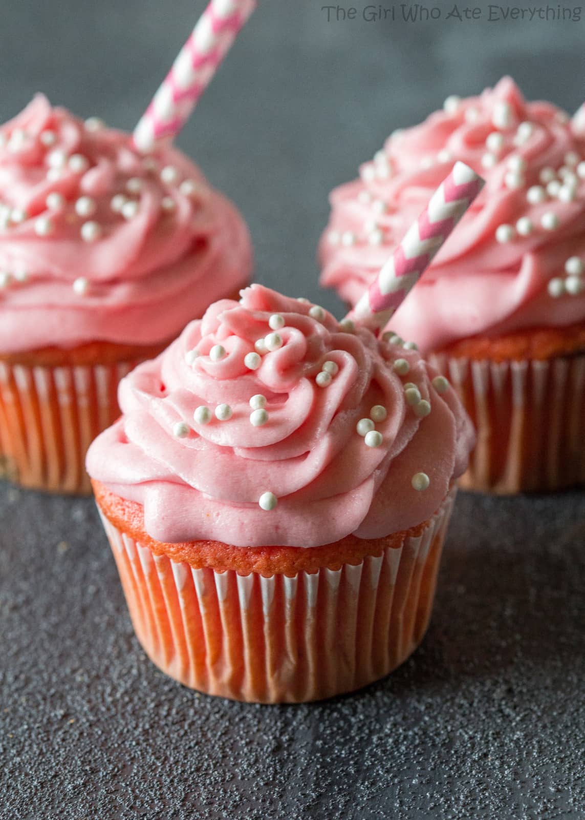
{"type": "Polygon", "coordinates": [[[39,95],[0,128],[0,353],[154,344],[237,291],[247,228],[183,154],[39,95]]]}

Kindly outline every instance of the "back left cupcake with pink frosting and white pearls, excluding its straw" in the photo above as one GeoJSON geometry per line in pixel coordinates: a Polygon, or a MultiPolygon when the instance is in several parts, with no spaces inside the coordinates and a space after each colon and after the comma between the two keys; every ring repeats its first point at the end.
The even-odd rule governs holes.
{"type": "Polygon", "coordinates": [[[0,476],[88,492],[116,389],[236,294],[252,263],[234,206],[183,154],[37,96],[0,128],[0,476]]]}

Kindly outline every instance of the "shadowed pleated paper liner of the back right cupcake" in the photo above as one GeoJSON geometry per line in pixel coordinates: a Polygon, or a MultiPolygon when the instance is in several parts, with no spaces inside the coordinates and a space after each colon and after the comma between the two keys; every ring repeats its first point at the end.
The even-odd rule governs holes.
{"type": "Polygon", "coordinates": [[[478,430],[465,490],[560,490],[585,482],[585,354],[490,362],[429,356],[478,430]]]}

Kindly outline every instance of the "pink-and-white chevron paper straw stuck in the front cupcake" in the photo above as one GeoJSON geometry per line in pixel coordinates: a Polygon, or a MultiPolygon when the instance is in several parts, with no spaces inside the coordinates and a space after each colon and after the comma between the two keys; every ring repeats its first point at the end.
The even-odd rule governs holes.
{"type": "Polygon", "coordinates": [[[481,176],[456,162],[347,319],[372,330],[386,325],[483,185],[481,176]]]}

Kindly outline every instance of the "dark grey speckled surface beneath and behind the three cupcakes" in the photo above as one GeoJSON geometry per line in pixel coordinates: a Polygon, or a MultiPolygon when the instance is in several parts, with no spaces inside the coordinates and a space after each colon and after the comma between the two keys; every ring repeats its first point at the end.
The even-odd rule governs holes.
{"type": "MultiPolygon", "coordinates": [[[[266,0],[179,140],[247,216],[256,278],[312,298],[334,184],[392,128],[506,72],[574,110],[585,34],[327,25],[321,5],[266,0]]],[[[132,127],[202,7],[3,3],[0,120],[42,89],[132,127]]],[[[158,672],[91,501],[0,485],[0,521],[2,820],[585,817],[583,494],[461,496],[421,649],[386,681],[299,707],[158,672]]]]}

